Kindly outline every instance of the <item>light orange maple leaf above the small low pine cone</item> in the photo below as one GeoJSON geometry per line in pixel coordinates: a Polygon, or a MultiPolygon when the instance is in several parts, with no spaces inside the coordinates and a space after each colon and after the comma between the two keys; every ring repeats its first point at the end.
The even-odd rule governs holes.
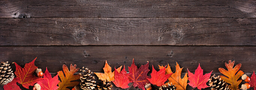
{"type": "MultiPolygon", "coordinates": [[[[116,70],[118,71],[118,73],[120,73],[122,66],[120,66],[119,68],[117,68],[116,70]]],[[[114,81],[114,71],[111,72],[111,67],[108,65],[107,60],[105,61],[105,67],[103,68],[104,70],[104,74],[102,73],[94,73],[97,75],[97,77],[99,78],[99,80],[102,81],[114,81]]]]}

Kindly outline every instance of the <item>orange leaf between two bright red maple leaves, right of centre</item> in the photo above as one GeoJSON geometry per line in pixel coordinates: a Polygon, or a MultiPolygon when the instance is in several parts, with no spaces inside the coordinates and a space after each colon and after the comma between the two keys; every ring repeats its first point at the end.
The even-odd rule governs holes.
{"type": "MultiPolygon", "coordinates": [[[[159,69],[163,69],[163,66],[159,66],[159,69]]],[[[173,85],[175,85],[176,90],[186,90],[187,85],[188,85],[188,73],[185,74],[184,78],[181,79],[181,71],[183,68],[179,67],[179,64],[176,62],[176,71],[175,73],[173,73],[169,78],[169,82],[168,83],[172,83],[173,85]]],[[[171,68],[168,64],[167,68],[166,68],[166,74],[171,74],[171,68]]],[[[166,85],[168,85],[166,83],[166,85]]]]}

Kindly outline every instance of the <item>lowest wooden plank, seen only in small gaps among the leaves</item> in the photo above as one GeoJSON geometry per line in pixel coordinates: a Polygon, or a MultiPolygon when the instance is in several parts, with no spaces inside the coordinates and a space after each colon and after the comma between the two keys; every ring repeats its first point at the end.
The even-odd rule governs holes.
{"type": "MultiPolygon", "coordinates": [[[[211,75],[214,75],[214,74],[215,74],[216,76],[222,75],[221,73],[212,73],[211,75]]],[[[245,73],[245,74],[246,74],[247,76],[249,76],[249,77],[251,77],[251,75],[252,75],[252,73],[245,73]]],[[[51,75],[52,75],[52,77],[53,77],[53,76],[57,75],[57,73],[51,73],[51,75]]],[[[183,78],[184,75],[185,75],[185,73],[182,73],[181,77],[183,78]]],[[[95,74],[92,74],[92,76],[95,77],[95,81],[96,81],[97,83],[100,82],[100,80],[98,80],[98,77],[97,77],[95,74]]],[[[188,82],[189,82],[189,81],[188,81],[188,82]]],[[[239,87],[241,87],[241,85],[244,84],[244,83],[246,83],[246,82],[245,82],[245,81],[242,81],[242,83],[240,84],[239,87]]],[[[132,83],[128,84],[128,86],[131,86],[131,84],[132,84],[132,83]]],[[[113,87],[112,87],[113,90],[127,90],[127,89],[120,89],[120,88],[114,86],[113,83],[112,83],[112,85],[113,85],[113,87]]],[[[208,85],[208,83],[207,83],[207,85],[208,85]]],[[[153,90],[158,90],[158,88],[159,88],[159,87],[154,86],[154,85],[153,85],[152,87],[153,87],[153,90]]],[[[29,89],[25,89],[25,88],[23,88],[23,87],[21,87],[21,88],[22,88],[22,90],[32,90],[32,89],[33,89],[32,86],[30,86],[29,89]]],[[[251,87],[251,88],[252,88],[252,87],[251,87]]],[[[187,90],[192,90],[192,89],[194,89],[194,88],[191,87],[191,86],[189,86],[189,85],[187,85],[187,90]]],[[[3,90],[3,87],[0,87],[0,90],[3,90]]],[[[80,89],[80,90],[82,90],[82,89],[80,89]]],[[[141,89],[139,89],[138,87],[134,88],[133,86],[131,86],[131,88],[130,88],[129,90],[141,90],[141,89]]],[[[194,89],[194,90],[199,90],[199,89],[194,89]]],[[[211,90],[211,89],[210,89],[210,88],[206,88],[206,89],[203,89],[203,90],[211,90]]]]}

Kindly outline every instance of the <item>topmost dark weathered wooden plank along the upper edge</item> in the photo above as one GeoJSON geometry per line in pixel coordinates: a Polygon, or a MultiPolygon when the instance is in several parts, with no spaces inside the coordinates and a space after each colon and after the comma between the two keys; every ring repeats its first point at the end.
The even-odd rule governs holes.
{"type": "Polygon", "coordinates": [[[0,18],[255,18],[255,0],[1,0],[0,18]]]}

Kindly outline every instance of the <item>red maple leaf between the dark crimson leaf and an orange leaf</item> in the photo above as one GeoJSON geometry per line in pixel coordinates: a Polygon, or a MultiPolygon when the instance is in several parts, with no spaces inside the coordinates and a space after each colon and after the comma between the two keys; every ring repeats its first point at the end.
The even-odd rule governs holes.
{"type": "Polygon", "coordinates": [[[152,73],[151,78],[147,78],[151,84],[157,85],[158,87],[161,87],[164,85],[164,82],[167,81],[167,79],[172,74],[165,74],[165,67],[163,69],[160,69],[160,71],[156,71],[154,69],[154,66],[152,65],[152,73]]]}

